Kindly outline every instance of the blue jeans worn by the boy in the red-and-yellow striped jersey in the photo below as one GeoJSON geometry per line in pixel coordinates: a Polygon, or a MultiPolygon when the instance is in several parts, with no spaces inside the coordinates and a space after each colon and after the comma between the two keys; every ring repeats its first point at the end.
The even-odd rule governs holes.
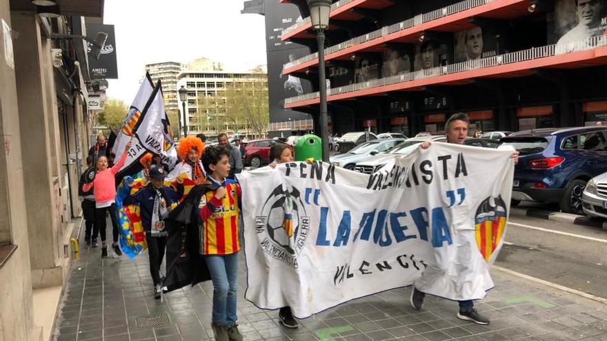
{"type": "Polygon", "coordinates": [[[238,253],[225,256],[204,256],[213,281],[212,321],[226,328],[238,319],[236,311],[238,288],[238,253]]]}

